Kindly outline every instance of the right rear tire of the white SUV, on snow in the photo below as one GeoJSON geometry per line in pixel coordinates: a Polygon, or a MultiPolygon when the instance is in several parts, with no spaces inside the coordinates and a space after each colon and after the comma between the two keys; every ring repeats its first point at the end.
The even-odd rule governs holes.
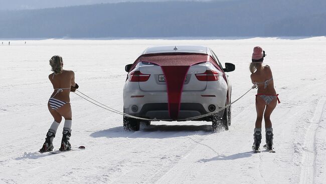
{"type": "Polygon", "coordinates": [[[221,130],[222,128],[225,130],[229,130],[229,124],[231,123],[231,121],[229,122],[229,120],[231,120],[231,118],[229,116],[229,115],[231,115],[231,113],[230,113],[231,110],[229,110],[229,109],[231,109],[231,108],[229,108],[229,107],[225,108],[222,118],[219,117],[217,115],[217,113],[213,114],[212,128],[213,128],[214,132],[217,132],[217,131],[221,130]]]}

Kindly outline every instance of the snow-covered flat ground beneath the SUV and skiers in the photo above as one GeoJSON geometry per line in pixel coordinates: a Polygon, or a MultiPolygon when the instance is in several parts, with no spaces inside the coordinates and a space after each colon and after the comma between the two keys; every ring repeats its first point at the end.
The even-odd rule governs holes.
{"type": "Polygon", "coordinates": [[[326,37],[24,43],[0,45],[0,183],[325,183],[326,37]],[[252,86],[252,48],[263,47],[281,100],[271,117],[276,153],[251,150],[255,90],[233,104],[230,129],[218,133],[206,121],[160,121],[123,131],[121,115],[71,93],[71,143],[86,149],[38,152],[53,121],[47,109],[52,55],[75,71],[81,92],[122,111],[124,65],[158,44],[208,45],[222,63],[234,63],[233,100],[252,86]]]}

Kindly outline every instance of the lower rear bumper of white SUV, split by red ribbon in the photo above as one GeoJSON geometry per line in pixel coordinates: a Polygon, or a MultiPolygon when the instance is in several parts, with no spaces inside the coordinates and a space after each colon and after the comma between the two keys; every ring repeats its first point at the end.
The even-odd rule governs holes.
{"type": "MultiPolygon", "coordinates": [[[[183,91],[177,120],[207,114],[212,111],[210,105],[214,105],[215,109],[224,107],[227,100],[226,93],[226,85],[208,85],[202,91],[183,91]]],[[[124,112],[130,115],[150,119],[171,119],[166,91],[143,91],[136,85],[125,86],[123,106],[124,112]]],[[[222,116],[223,113],[224,110],[221,110],[217,115],[222,116]]],[[[211,117],[195,120],[211,121],[211,117]]]]}

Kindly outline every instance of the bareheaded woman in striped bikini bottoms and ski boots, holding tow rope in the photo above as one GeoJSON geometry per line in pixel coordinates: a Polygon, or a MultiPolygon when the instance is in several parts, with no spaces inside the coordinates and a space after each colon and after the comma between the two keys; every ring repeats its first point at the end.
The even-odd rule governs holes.
{"type": "Polygon", "coordinates": [[[78,85],[75,83],[74,71],[63,69],[63,60],[61,56],[54,55],[50,59],[50,65],[52,67],[51,70],[54,71],[49,75],[54,92],[48,101],[48,108],[54,121],[47,132],[45,142],[40,152],[53,150],[52,141],[56,135],[62,116],[65,118],[65,123],[63,125],[60,150],[65,151],[71,149],[69,139],[71,136],[72,111],[69,94],[70,91],[74,92],[78,88],[78,85]]]}

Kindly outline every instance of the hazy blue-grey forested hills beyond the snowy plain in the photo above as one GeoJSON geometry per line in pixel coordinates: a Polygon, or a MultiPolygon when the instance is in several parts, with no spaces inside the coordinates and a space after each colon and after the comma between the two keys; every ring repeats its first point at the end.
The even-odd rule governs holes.
{"type": "Polygon", "coordinates": [[[0,38],[318,36],[326,0],[121,2],[0,11],[0,38]]]}

